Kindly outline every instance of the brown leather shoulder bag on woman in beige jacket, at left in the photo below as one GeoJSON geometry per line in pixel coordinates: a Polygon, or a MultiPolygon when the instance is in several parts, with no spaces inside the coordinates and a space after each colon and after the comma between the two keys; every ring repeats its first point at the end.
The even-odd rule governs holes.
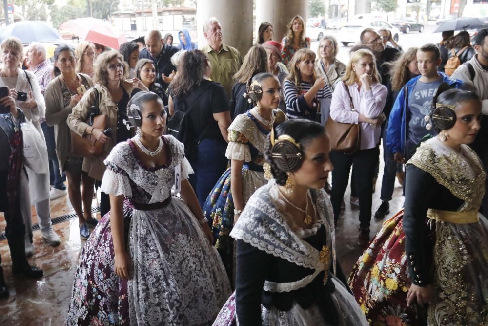
{"type": "MultiPolygon", "coordinates": [[[[97,92],[95,98],[95,104],[90,106],[90,115],[86,120],[86,123],[97,129],[105,130],[107,128],[107,116],[100,114],[99,102],[100,92],[97,88],[93,87],[97,92]]],[[[103,144],[99,142],[92,134],[83,134],[79,136],[73,130],[71,133],[71,154],[77,157],[99,157],[103,155],[103,144]]]]}

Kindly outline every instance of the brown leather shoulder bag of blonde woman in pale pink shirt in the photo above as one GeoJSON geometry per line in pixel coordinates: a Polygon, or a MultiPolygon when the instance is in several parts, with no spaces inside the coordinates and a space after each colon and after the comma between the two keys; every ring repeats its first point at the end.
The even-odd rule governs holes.
{"type": "MultiPolygon", "coordinates": [[[[354,109],[354,104],[352,103],[349,87],[346,85],[344,85],[344,87],[349,95],[351,111],[356,111],[356,109],[354,109]]],[[[330,149],[332,151],[352,154],[359,150],[361,144],[361,128],[359,123],[342,123],[329,117],[325,124],[325,130],[327,130],[329,135],[330,149]]]]}

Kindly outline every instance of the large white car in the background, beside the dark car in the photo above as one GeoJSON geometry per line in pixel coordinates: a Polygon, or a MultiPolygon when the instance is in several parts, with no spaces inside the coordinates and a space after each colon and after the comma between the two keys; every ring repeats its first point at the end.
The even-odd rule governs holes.
{"type": "Polygon", "coordinates": [[[341,29],[339,30],[338,40],[344,46],[349,45],[350,43],[357,43],[359,42],[359,37],[361,36],[361,32],[365,28],[373,28],[376,31],[379,31],[381,28],[387,28],[391,31],[391,35],[393,36],[393,40],[398,42],[400,38],[400,31],[395,26],[390,25],[385,21],[365,21],[365,20],[351,20],[345,23],[341,29]]]}

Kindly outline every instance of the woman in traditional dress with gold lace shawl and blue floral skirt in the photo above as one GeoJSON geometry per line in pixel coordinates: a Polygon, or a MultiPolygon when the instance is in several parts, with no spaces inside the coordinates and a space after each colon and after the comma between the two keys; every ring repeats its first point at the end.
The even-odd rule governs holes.
{"type": "Polygon", "coordinates": [[[224,262],[227,275],[234,283],[234,239],[229,233],[249,197],[266,183],[264,179],[264,148],[271,126],[285,121],[280,111],[281,87],[270,73],[258,73],[247,83],[246,97],[253,109],[239,114],[230,125],[226,156],[231,167],[221,176],[203,205],[209,220],[215,247],[224,262]],[[267,120],[269,119],[269,120],[267,120]]]}

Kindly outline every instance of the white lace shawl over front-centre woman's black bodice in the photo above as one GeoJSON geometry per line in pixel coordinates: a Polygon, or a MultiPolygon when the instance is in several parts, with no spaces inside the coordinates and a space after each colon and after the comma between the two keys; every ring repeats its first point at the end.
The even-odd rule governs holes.
{"type": "Polygon", "coordinates": [[[327,247],[332,248],[332,260],[326,265],[319,260],[320,252],[302,239],[307,230],[297,227],[286,213],[286,204],[275,184],[272,179],[251,196],[230,235],[296,265],[320,271],[328,269],[330,263],[335,262],[335,237],[332,207],[325,191],[310,190],[317,219],[325,226],[327,247]]]}

